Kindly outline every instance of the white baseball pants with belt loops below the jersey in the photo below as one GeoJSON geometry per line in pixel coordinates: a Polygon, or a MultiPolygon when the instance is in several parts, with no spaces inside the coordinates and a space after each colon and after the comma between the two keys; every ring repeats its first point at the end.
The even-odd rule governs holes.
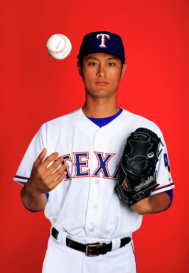
{"type": "MultiPolygon", "coordinates": [[[[120,238],[112,241],[112,250],[107,254],[89,257],[84,252],[66,246],[67,238],[82,244],[96,243],[60,231],[58,240],[49,237],[42,273],[136,273],[136,262],[133,241],[122,248],[120,238]]],[[[131,236],[129,236],[131,237],[131,236]]]]}

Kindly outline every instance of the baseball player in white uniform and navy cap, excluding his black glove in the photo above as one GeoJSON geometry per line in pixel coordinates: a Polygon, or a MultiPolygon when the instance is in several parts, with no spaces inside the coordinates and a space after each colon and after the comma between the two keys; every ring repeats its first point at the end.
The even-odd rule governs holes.
{"type": "Polygon", "coordinates": [[[84,106],[40,127],[14,180],[24,186],[24,206],[30,211],[45,207],[52,224],[43,273],[134,273],[132,232],[140,227],[143,214],[164,211],[172,202],[166,144],[155,123],[117,105],[118,85],[127,68],[119,35],[87,34],[77,67],[85,86],[84,106]],[[126,206],[116,191],[118,166],[125,140],[139,127],[161,140],[157,187],[126,206]]]}

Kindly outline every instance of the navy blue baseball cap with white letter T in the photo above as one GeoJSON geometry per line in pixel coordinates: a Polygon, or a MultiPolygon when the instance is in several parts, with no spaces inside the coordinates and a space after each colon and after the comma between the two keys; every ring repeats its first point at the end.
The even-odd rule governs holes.
{"type": "Polygon", "coordinates": [[[108,31],[91,32],[83,38],[78,59],[97,52],[115,55],[125,61],[125,52],[121,37],[108,31]]]}

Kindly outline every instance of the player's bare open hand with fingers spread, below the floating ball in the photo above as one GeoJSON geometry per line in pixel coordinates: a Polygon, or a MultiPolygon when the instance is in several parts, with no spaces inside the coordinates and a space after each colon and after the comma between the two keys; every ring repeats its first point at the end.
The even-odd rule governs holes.
{"type": "Polygon", "coordinates": [[[47,168],[51,161],[58,156],[58,152],[52,153],[43,161],[46,152],[47,150],[43,148],[42,152],[33,163],[30,178],[26,182],[25,191],[32,196],[50,192],[67,174],[67,172],[65,172],[65,169],[68,167],[67,163],[56,170],[63,161],[62,157],[59,157],[49,168],[47,168]],[[54,174],[52,174],[53,172],[54,174]]]}

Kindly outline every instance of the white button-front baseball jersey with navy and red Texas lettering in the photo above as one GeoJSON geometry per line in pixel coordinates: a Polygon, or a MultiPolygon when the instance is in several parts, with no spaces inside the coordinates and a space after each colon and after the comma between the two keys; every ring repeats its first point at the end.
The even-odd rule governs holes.
{"type": "Polygon", "coordinates": [[[96,241],[127,236],[140,227],[142,215],[126,207],[116,194],[116,175],[124,142],[138,127],[155,132],[164,145],[156,165],[160,185],[152,194],[170,190],[174,184],[162,132],[152,121],[126,110],[101,128],[83,114],[82,108],[44,123],[14,180],[26,183],[44,147],[46,156],[58,152],[68,167],[65,179],[49,193],[45,207],[52,226],[96,241]]]}

